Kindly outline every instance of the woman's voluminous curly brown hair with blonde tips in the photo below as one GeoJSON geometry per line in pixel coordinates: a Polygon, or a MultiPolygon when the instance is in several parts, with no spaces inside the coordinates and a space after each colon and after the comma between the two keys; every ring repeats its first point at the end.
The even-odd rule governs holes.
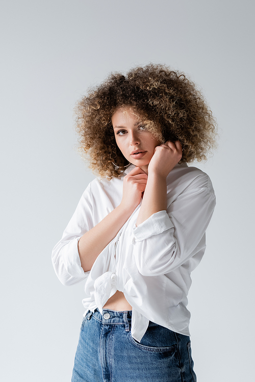
{"type": "Polygon", "coordinates": [[[126,75],[112,73],[90,88],[75,107],[82,156],[101,176],[119,176],[128,164],[114,137],[112,116],[129,106],[159,141],[180,140],[181,162],[206,160],[215,146],[216,121],[211,110],[183,72],[149,64],[126,75]],[[113,162],[117,165],[115,166],[113,162]]]}

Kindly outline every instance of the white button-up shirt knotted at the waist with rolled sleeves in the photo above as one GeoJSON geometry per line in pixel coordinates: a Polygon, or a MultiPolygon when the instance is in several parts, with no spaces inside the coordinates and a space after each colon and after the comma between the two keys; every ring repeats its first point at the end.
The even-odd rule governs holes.
{"type": "Polygon", "coordinates": [[[108,299],[117,290],[123,292],[133,308],[131,334],[139,342],[149,320],[189,336],[190,273],[205,252],[205,232],[215,207],[210,178],[196,167],[177,164],[167,176],[167,211],[137,227],[140,203],[84,272],[78,241],[120,204],[122,186],[123,176],[97,178],[88,185],[53,249],[57,276],[64,285],[85,281],[84,315],[96,308],[102,313],[108,299]]]}

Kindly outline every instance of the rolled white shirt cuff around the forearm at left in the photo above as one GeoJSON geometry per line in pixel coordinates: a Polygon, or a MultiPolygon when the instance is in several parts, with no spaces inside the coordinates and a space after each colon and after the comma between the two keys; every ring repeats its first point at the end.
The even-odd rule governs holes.
{"type": "Polygon", "coordinates": [[[81,259],[78,251],[78,241],[80,240],[80,236],[72,239],[68,244],[66,244],[62,251],[63,263],[67,270],[67,272],[72,277],[81,277],[84,278],[89,274],[90,271],[84,272],[81,259]]]}

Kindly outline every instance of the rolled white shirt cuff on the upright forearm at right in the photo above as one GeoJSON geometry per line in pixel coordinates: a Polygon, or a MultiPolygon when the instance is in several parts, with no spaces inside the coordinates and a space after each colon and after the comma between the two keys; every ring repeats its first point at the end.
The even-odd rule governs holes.
{"type": "Polygon", "coordinates": [[[162,234],[162,232],[169,230],[170,228],[173,228],[173,223],[167,212],[165,210],[159,211],[139,224],[138,227],[134,227],[134,238],[135,241],[142,241],[153,235],[162,234]]]}

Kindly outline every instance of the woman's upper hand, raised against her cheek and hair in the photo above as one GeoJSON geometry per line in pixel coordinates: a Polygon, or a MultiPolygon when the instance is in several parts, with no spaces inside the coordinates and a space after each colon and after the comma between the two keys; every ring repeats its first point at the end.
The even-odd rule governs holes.
{"type": "Polygon", "coordinates": [[[156,173],[167,177],[173,167],[182,159],[183,151],[180,141],[162,143],[155,147],[154,156],[148,165],[148,175],[156,173]]]}

